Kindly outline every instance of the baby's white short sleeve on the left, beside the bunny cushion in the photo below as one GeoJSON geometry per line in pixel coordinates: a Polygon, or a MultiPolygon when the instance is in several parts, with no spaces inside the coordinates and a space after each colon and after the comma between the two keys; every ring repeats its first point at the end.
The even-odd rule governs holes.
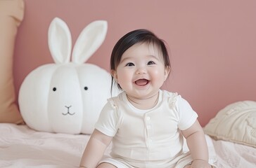
{"type": "Polygon", "coordinates": [[[114,137],[117,132],[118,121],[119,116],[115,105],[108,102],[103,107],[95,128],[105,135],[114,137]]]}

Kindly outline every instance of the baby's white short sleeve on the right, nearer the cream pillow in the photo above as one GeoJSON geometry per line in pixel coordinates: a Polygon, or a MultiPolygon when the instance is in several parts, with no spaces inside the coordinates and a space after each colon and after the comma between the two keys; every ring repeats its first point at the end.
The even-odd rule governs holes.
{"type": "Polygon", "coordinates": [[[186,130],[196,122],[198,114],[193,111],[191,105],[181,96],[177,97],[176,106],[179,113],[179,130],[186,130]]]}

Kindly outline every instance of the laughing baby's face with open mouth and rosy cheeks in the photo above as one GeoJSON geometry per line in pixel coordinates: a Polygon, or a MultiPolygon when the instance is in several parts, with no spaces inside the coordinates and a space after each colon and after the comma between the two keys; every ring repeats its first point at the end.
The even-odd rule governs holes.
{"type": "Polygon", "coordinates": [[[168,73],[158,48],[138,43],[124,52],[113,76],[129,96],[141,99],[157,94],[168,73]]]}

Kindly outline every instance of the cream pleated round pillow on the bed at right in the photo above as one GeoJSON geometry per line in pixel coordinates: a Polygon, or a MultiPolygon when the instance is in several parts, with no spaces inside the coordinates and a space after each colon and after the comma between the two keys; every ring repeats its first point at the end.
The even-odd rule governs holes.
{"type": "Polygon", "coordinates": [[[204,130],[214,139],[256,148],[256,102],[229,104],[205,125],[204,130]]]}

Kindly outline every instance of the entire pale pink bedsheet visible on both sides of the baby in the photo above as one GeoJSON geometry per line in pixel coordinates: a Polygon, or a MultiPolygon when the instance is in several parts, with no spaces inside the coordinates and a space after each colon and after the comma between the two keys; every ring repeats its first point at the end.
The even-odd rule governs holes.
{"type": "MultiPolygon", "coordinates": [[[[210,162],[217,167],[256,167],[256,148],[205,137],[210,162]]],[[[0,123],[0,167],[78,167],[88,140],[84,134],[36,132],[27,125],[0,123]]],[[[109,152],[110,147],[105,155],[109,152]]]]}

